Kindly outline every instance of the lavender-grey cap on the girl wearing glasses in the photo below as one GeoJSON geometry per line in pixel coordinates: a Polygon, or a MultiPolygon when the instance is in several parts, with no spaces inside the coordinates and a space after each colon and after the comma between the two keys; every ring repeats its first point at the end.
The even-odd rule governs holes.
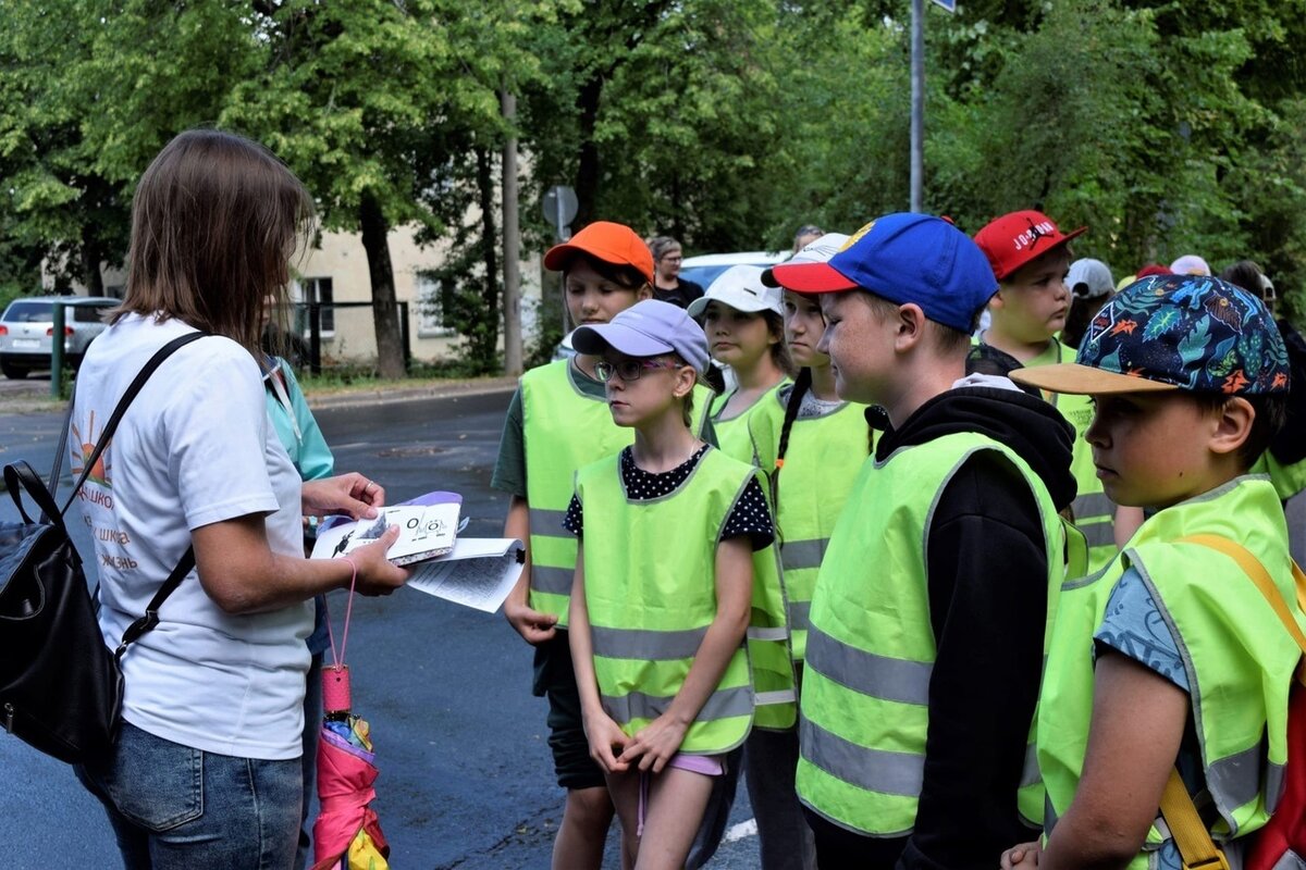
{"type": "Polygon", "coordinates": [[[675,353],[703,374],[708,367],[708,337],[678,305],[648,299],[631,305],[607,323],[577,327],[572,347],[598,355],[613,348],[627,356],[675,353]]]}

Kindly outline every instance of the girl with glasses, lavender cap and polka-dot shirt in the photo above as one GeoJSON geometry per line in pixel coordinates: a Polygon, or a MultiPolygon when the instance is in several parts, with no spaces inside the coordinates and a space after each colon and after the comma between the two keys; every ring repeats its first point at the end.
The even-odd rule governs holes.
{"type": "Polygon", "coordinates": [[[613,420],[635,433],[577,472],[563,522],[580,539],[569,634],[585,734],[622,866],[683,867],[752,727],[743,640],[755,610],[781,609],[754,586],[774,570],[771,514],[756,470],[688,427],[708,346],[686,312],[640,303],[573,342],[602,355],[613,420]]]}

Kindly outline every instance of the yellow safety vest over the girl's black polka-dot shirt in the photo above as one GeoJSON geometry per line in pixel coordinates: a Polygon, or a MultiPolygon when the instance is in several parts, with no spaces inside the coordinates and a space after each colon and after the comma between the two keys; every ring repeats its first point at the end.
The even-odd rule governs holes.
{"type": "MultiPolygon", "coordinates": [[[[684,685],[716,617],[721,528],[754,470],[708,449],[673,493],[629,500],[618,457],[580,470],[585,604],[603,710],[633,736],[684,685]]],[[[743,644],[730,657],[680,750],[724,753],[752,724],[754,690],[743,644]]]]}

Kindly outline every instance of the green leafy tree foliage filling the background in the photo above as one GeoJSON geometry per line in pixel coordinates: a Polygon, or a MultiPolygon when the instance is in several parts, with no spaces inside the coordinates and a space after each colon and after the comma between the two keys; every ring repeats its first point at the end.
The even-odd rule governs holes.
{"type": "MultiPolygon", "coordinates": [[[[42,262],[94,287],[153,154],[218,124],[285,159],[325,227],[363,232],[379,314],[385,232],[449,244],[462,352],[492,368],[503,90],[528,250],[551,243],[532,203],[556,184],[573,228],[690,253],[908,205],[905,0],[0,0],[0,292],[34,291],[42,262]]],[[[1303,42],[1306,0],[931,8],[926,207],[972,232],[1041,207],[1088,224],[1076,254],[1117,275],[1256,260],[1306,314],[1303,42]]]]}

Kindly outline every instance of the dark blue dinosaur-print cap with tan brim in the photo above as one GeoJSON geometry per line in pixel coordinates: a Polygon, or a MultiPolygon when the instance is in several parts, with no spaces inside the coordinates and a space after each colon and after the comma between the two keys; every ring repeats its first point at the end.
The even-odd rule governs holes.
{"type": "Polygon", "coordinates": [[[1155,275],[1111,297],[1075,363],[1016,369],[1055,393],[1288,391],[1288,348],[1254,293],[1209,275],[1155,275]]]}

